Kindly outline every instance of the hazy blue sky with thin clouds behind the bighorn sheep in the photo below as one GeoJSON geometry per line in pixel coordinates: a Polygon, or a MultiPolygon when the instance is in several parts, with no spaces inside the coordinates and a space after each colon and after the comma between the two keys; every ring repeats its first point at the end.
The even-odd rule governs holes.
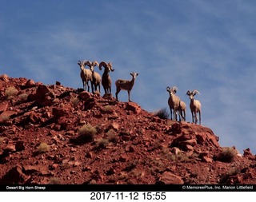
{"type": "Polygon", "coordinates": [[[255,1],[0,2],[0,74],[77,89],[78,60],[111,61],[113,81],[139,73],[131,100],[143,109],[168,109],[175,85],[191,121],[186,91],[198,89],[202,125],[220,145],[256,153],[255,1]]]}

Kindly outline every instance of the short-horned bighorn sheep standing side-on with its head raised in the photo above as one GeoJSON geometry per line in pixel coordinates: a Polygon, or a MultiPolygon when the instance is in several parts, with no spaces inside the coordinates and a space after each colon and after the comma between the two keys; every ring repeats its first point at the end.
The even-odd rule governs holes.
{"type": "Polygon", "coordinates": [[[132,79],[129,80],[122,80],[122,79],[118,79],[117,81],[115,81],[115,86],[116,86],[116,93],[115,93],[115,97],[118,101],[118,93],[120,92],[121,89],[127,90],[128,92],[128,101],[130,101],[130,91],[131,89],[133,89],[134,87],[134,81],[136,79],[136,77],[138,76],[138,73],[130,73],[130,75],[132,76],[132,79]]]}

